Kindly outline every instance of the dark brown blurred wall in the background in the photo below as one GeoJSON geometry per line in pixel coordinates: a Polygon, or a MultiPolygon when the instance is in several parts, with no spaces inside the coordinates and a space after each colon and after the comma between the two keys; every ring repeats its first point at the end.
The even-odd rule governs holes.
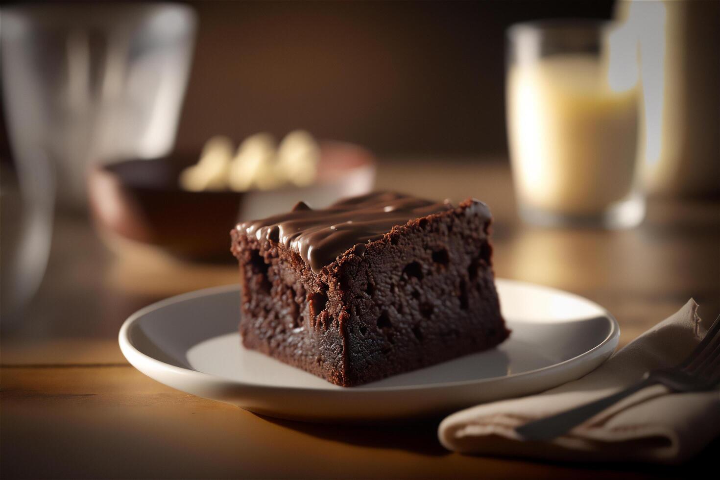
{"type": "Polygon", "coordinates": [[[199,31],[178,150],[218,133],[302,127],[378,153],[422,154],[505,152],[505,29],[611,17],[613,2],[191,4],[199,31]]]}

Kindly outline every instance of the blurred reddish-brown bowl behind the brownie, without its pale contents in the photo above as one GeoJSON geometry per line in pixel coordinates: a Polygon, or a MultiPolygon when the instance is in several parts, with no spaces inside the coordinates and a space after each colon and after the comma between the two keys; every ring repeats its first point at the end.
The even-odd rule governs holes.
{"type": "Polygon", "coordinates": [[[197,155],[97,165],[88,176],[91,212],[101,236],[113,245],[120,237],[189,260],[229,260],[229,232],[238,221],[285,212],[300,200],[323,208],[372,191],[371,153],[342,142],[321,142],[320,148],[315,184],[274,190],[183,190],[179,173],[196,163],[197,155]]]}

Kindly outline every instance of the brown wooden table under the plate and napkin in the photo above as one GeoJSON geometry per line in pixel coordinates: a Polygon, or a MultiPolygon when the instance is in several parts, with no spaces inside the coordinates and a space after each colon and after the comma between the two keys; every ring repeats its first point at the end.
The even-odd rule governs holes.
{"type": "MultiPolygon", "coordinates": [[[[498,276],[603,304],[621,324],[622,344],[691,296],[701,304],[701,315],[720,312],[719,201],[654,200],[644,225],[628,231],[544,230],[518,222],[510,173],[501,160],[395,159],[382,163],[377,186],[484,199],[496,218],[498,276]]],[[[235,283],[235,266],[124,251],[111,252],[83,216],[57,219],[45,281],[22,322],[2,331],[2,478],[680,474],[654,466],[461,456],[438,444],[437,419],[392,427],[309,425],[258,417],[158,384],[120,354],[122,321],[165,296],[235,283]]],[[[711,461],[719,445],[698,461],[711,461]]]]}

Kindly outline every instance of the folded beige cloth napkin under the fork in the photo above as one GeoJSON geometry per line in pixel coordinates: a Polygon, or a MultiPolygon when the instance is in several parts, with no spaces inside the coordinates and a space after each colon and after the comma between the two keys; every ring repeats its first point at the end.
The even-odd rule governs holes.
{"type": "Polygon", "coordinates": [[[565,461],[681,463],[720,434],[720,391],[672,393],[654,385],[637,391],[552,442],[523,440],[513,430],[624,389],[653,368],[683,361],[711,322],[685,307],[644,332],[582,377],[541,394],[482,404],[443,420],[438,437],[449,450],[565,461]]]}

